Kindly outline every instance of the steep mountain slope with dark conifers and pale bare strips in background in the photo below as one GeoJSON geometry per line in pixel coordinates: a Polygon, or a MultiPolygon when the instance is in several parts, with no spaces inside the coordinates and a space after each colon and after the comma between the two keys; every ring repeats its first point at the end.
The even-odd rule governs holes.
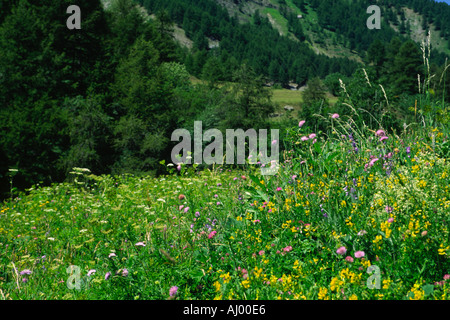
{"type": "Polygon", "coordinates": [[[189,72],[202,77],[209,61],[217,78],[232,81],[238,65],[286,86],[332,73],[350,76],[368,64],[376,41],[416,42],[431,30],[431,63],[450,54],[450,7],[431,0],[379,0],[380,30],[367,28],[368,0],[138,0],[149,14],[166,10],[175,39],[189,48],[189,72]],[[447,20],[447,17],[449,18],[447,20]],[[217,61],[215,61],[217,60],[217,61]]]}

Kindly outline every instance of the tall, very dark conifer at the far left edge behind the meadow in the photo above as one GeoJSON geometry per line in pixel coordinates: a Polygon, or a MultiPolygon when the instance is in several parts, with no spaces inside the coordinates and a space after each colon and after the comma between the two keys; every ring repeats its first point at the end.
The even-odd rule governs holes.
{"type": "Polygon", "coordinates": [[[0,145],[17,182],[50,182],[63,176],[57,161],[68,148],[62,101],[103,85],[108,70],[108,25],[100,1],[81,0],[81,30],[66,26],[70,1],[18,0],[0,26],[0,145]]]}

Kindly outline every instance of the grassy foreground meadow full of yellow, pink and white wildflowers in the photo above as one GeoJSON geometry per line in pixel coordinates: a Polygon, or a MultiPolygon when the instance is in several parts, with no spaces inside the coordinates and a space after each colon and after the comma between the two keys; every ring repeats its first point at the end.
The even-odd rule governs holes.
{"type": "Polygon", "coordinates": [[[0,206],[0,297],[448,299],[448,129],[380,141],[324,121],[306,141],[307,123],[288,130],[274,176],[75,168],[15,195],[0,206]]]}

